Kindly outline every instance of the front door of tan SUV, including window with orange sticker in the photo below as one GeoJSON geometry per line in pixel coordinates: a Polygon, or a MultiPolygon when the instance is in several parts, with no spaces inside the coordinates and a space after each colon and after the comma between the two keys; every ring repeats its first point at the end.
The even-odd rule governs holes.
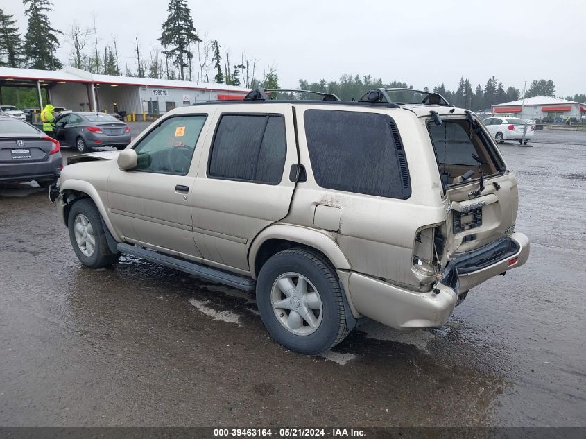
{"type": "Polygon", "coordinates": [[[207,119],[204,113],[164,119],[135,146],[136,168],[110,173],[112,222],[126,241],[201,257],[193,241],[191,202],[207,119]]]}

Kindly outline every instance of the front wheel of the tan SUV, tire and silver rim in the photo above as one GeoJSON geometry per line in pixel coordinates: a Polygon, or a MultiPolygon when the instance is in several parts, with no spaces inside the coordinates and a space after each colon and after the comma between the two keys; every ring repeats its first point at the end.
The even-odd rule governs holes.
{"type": "Polygon", "coordinates": [[[69,239],[81,263],[89,268],[114,264],[120,253],[112,253],[98,208],[85,198],[71,206],[67,220],[69,239]]]}

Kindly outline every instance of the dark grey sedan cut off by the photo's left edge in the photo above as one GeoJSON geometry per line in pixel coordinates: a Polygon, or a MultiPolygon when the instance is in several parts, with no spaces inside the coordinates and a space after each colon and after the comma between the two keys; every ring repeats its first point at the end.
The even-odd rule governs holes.
{"type": "Polygon", "coordinates": [[[0,182],[35,180],[49,187],[62,164],[58,141],[24,121],[0,116],[0,182]]]}

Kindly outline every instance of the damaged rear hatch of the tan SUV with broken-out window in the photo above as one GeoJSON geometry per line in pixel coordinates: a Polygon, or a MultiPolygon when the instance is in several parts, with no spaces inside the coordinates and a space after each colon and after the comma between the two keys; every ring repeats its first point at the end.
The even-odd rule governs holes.
{"type": "Polygon", "coordinates": [[[442,264],[512,233],[517,218],[517,178],[477,119],[442,116],[426,121],[447,198],[440,230],[442,264]],[[473,120],[472,123],[471,120],[473,120]]]}

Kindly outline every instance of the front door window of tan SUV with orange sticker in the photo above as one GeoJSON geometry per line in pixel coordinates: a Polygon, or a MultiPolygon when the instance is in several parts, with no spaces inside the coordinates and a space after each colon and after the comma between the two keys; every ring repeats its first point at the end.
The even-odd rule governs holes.
{"type": "Polygon", "coordinates": [[[204,126],[205,115],[165,119],[135,146],[137,171],[185,175],[204,126]]]}

